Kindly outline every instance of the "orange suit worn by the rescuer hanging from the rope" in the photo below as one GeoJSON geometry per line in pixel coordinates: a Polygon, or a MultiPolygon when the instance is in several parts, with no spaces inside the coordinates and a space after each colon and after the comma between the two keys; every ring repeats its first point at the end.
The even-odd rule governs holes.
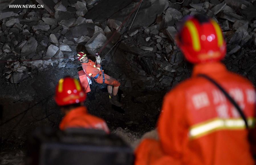
{"type": "MultiPolygon", "coordinates": [[[[101,71],[101,65],[95,64],[92,60],[89,60],[87,63],[82,63],[83,71],[89,76],[89,77],[95,77],[97,74],[99,74],[99,77],[95,79],[96,82],[102,84],[103,83],[103,75],[101,71]]],[[[116,79],[106,75],[105,76],[105,84],[113,85],[113,86],[120,86],[120,82],[118,82],[116,79]]]]}

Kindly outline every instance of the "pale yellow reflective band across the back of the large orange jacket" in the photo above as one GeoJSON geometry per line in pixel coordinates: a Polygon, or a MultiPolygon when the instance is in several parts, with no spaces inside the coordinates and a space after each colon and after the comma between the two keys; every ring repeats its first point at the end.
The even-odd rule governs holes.
{"type": "MultiPolygon", "coordinates": [[[[255,118],[247,119],[248,126],[253,128],[255,126],[255,118]]],[[[196,124],[189,130],[189,138],[200,138],[218,130],[241,130],[245,129],[245,122],[243,119],[220,119],[215,118],[206,122],[196,124]]]]}

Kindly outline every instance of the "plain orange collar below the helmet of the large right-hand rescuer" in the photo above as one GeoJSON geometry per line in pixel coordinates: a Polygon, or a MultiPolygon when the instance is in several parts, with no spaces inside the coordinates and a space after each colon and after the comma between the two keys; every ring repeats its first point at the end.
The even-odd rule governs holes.
{"type": "Polygon", "coordinates": [[[207,75],[214,75],[215,73],[222,73],[226,72],[227,69],[224,64],[221,62],[211,62],[205,64],[196,64],[194,65],[192,77],[195,77],[199,73],[207,74],[207,75]]]}

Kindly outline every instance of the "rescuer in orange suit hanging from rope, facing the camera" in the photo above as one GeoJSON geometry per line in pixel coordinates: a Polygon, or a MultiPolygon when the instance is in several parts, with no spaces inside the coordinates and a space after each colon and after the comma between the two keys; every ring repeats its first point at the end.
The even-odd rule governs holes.
{"type": "Polygon", "coordinates": [[[100,60],[95,64],[92,60],[86,56],[87,52],[78,52],[77,58],[82,63],[83,71],[87,76],[93,77],[93,79],[99,84],[105,83],[107,84],[109,98],[112,104],[121,107],[122,103],[118,101],[118,88],[120,86],[120,82],[116,79],[106,75],[101,69],[100,60]]]}

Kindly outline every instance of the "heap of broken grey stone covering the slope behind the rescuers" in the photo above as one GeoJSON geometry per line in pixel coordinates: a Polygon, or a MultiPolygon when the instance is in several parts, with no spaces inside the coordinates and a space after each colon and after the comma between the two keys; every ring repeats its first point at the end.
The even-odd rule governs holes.
{"type": "MultiPolygon", "coordinates": [[[[50,66],[68,67],[75,60],[72,57],[76,55],[79,43],[84,44],[90,54],[95,54],[129,14],[124,11],[131,11],[138,3],[131,1],[127,9],[121,12],[118,10],[118,17],[99,21],[87,18],[87,13],[101,10],[97,9],[99,5],[114,1],[36,1],[44,5],[44,10],[1,12],[0,60],[58,59],[6,63],[3,73],[12,83],[22,81],[34,69],[42,71],[50,66]]],[[[104,15],[104,12],[99,13],[104,15]]],[[[146,82],[143,88],[153,88],[155,84],[170,86],[171,82],[176,84],[186,77],[189,71],[184,66],[183,56],[174,38],[181,18],[199,13],[213,18],[221,25],[227,41],[228,56],[235,56],[240,51],[255,54],[255,0],[144,1],[132,28],[127,31],[130,24],[126,24],[119,30],[119,35],[124,35],[119,49],[136,55],[148,67],[135,71],[146,82]]],[[[108,48],[113,44],[110,43],[108,48]]],[[[135,74],[129,76],[133,80],[138,79],[135,74]]],[[[134,83],[136,81],[127,81],[125,86],[132,87],[134,83]]]]}

